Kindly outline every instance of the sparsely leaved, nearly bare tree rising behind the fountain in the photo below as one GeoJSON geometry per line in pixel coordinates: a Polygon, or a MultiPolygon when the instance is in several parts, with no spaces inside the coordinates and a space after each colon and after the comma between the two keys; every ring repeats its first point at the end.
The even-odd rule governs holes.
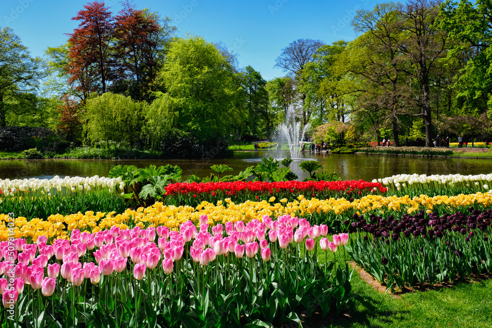
{"type": "MultiPolygon", "coordinates": [[[[285,72],[289,72],[294,77],[297,88],[302,89],[306,83],[302,78],[302,73],[306,64],[312,61],[316,50],[324,45],[320,40],[298,39],[291,42],[287,47],[282,49],[282,53],[277,57],[275,67],[281,68],[285,72]]],[[[311,111],[305,108],[307,93],[301,91],[299,93],[302,106],[302,122],[306,125],[309,122],[311,111]]]]}

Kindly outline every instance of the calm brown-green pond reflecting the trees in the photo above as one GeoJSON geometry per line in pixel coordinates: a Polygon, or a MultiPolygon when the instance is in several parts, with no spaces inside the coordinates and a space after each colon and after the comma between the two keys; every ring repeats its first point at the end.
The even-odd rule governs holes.
{"type": "MultiPolygon", "coordinates": [[[[214,164],[227,164],[234,171],[226,174],[238,174],[248,166],[256,165],[263,157],[274,156],[278,160],[288,156],[287,152],[253,151],[235,152],[232,157],[199,159],[166,159],[166,160],[74,160],[74,159],[42,159],[42,160],[0,160],[0,179],[51,179],[58,175],[70,177],[107,177],[111,168],[116,165],[135,165],[146,167],[154,165],[178,165],[183,176],[194,174],[201,178],[210,175],[214,164]]],[[[492,173],[492,160],[471,158],[427,158],[411,156],[364,155],[364,154],[326,154],[308,152],[302,160],[315,159],[328,172],[337,172],[341,179],[372,179],[389,177],[395,174],[489,174],[492,173]]],[[[297,167],[300,160],[294,161],[290,167],[300,179],[308,175],[297,167]]]]}

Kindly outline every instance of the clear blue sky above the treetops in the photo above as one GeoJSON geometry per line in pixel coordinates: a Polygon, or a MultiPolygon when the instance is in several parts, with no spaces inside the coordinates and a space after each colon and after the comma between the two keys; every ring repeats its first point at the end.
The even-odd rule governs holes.
{"type": "MultiPolygon", "coordinates": [[[[78,26],[71,18],[87,0],[0,0],[0,27],[19,35],[33,56],[43,56],[47,47],[64,44],[78,26]]],[[[105,1],[113,13],[118,0],[105,1]]],[[[284,73],[274,68],[282,48],[299,38],[325,43],[354,38],[350,26],[357,9],[372,9],[375,0],[135,0],[136,8],[149,8],[168,16],[178,36],[199,35],[209,42],[222,42],[239,55],[239,66],[251,65],[265,80],[284,73]]]]}

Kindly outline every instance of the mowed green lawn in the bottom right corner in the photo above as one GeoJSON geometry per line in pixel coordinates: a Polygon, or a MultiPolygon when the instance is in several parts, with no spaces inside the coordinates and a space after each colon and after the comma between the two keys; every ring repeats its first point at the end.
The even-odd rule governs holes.
{"type": "MultiPolygon", "coordinates": [[[[327,236],[333,240],[331,236],[327,236]]],[[[317,241],[319,242],[319,241],[317,241]]],[[[319,243],[318,243],[319,246],[319,243]]],[[[325,252],[318,247],[320,262],[325,252]]],[[[336,257],[328,251],[328,261],[343,263],[343,251],[336,257]]],[[[347,256],[347,261],[353,261],[347,256]]],[[[452,287],[427,291],[407,291],[393,295],[377,291],[357,270],[352,275],[352,291],[362,299],[351,300],[336,317],[335,311],[325,319],[307,320],[307,328],[390,328],[456,327],[492,328],[492,280],[462,282],[452,287]],[[332,315],[333,313],[333,315],[332,315]]],[[[376,282],[377,283],[377,282],[376,282]]]]}

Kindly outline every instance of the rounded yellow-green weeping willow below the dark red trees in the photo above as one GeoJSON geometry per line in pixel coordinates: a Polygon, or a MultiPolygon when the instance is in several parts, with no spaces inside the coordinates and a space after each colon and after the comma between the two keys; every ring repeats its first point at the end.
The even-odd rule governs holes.
{"type": "Polygon", "coordinates": [[[127,141],[130,147],[138,141],[142,129],[142,108],[130,97],[111,92],[100,96],[92,93],[85,111],[85,128],[91,142],[104,141],[109,149],[110,140],[127,141]]]}

